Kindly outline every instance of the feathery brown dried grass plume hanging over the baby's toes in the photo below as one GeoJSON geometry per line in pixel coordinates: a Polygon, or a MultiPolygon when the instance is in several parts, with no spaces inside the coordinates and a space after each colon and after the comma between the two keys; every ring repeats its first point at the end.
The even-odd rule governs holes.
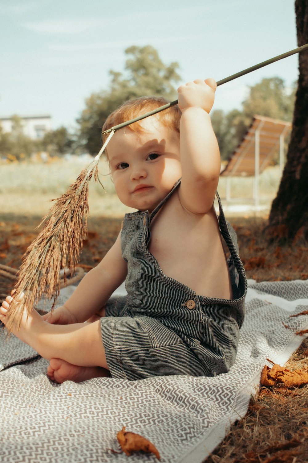
{"type": "MultiPolygon", "coordinates": [[[[94,161],[84,169],[77,180],[62,194],[49,213],[42,220],[45,225],[23,256],[18,271],[18,280],[13,299],[7,314],[6,328],[20,327],[24,310],[30,313],[44,296],[53,300],[54,308],[60,294],[60,269],[69,269],[74,274],[82,250],[83,239],[87,233],[89,214],[89,183],[93,177],[98,179],[98,161],[114,131],[104,143],[94,161]],[[18,295],[24,293],[21,299],[18,295]]],[[[64,276],[66,281],[66,275],[64,276]]]]}

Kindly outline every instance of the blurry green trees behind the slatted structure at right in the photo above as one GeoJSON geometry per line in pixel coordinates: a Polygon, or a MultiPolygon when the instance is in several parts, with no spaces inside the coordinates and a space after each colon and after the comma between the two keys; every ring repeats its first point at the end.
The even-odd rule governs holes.
{"type": "Polygon", "coordinates": [[[242,102],[242,111],[234,109],[227,114],[213,111],[211,121],[222,159],[228,159],[241,143],[254,115],[291,122],[295,93],[295,84],[288,89],[279,77],[265,78],[249,87],[249,94],[242,102]]]}

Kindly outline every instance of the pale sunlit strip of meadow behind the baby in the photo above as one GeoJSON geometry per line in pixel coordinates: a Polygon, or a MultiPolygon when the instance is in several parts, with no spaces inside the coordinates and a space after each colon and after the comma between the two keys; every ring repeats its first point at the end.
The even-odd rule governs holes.
{"type": "MultiPolygon", "coordinates": [[[[78,157],[72,160],[57,159],[51,163],[0,163],[0,210],[2,213],[18,215],[43,216],[48,212],[50,200],[64,193],[89,161],[80,161],[78,157]]],[[[115,195],[115,189],[109,175],[106,161],[99,163],[100,180],[106,192],[99,183],[91,183],[89,188],[89,205],[92,217],[120,217],[131,211],[122,205],[115,195]]],[[[279,184],[278,166],[266,169],[260,175],[260,208],[259,214],[253,208],[253,179],[231,179],[232,201],[224,202],[225,212],[230,216],[237,214],[265,215],[272,199],[275,197],[279,184]]],[[[219,180],[218,191],[221,198],[226,196],[226,179],[219,180]]]]}

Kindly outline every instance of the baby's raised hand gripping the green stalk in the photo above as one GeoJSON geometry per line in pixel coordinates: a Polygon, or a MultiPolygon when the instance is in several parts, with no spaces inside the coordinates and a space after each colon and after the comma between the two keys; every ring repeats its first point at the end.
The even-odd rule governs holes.
{"type": "Polygon", "coordinates": [[[181,85],[177,89],[179,108],[183,112],[189,107],[196,107],[209,113],[214,103],[216,87],[217,84],[214,79],[205,79],[205,81],[196,79],[193,82],[188,82],[186,85],[181,85]]]}

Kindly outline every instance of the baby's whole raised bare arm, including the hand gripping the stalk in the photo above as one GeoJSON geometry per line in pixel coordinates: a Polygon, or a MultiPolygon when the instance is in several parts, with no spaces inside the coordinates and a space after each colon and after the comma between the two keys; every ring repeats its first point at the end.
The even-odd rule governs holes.
{"type": "Polygon", "coordinates": [[[182,181],[180,200],[192,213],[207,213],[215,198],[220,154],[209,113],[216,82],[195,80],[178,88],[182,181]]]}

